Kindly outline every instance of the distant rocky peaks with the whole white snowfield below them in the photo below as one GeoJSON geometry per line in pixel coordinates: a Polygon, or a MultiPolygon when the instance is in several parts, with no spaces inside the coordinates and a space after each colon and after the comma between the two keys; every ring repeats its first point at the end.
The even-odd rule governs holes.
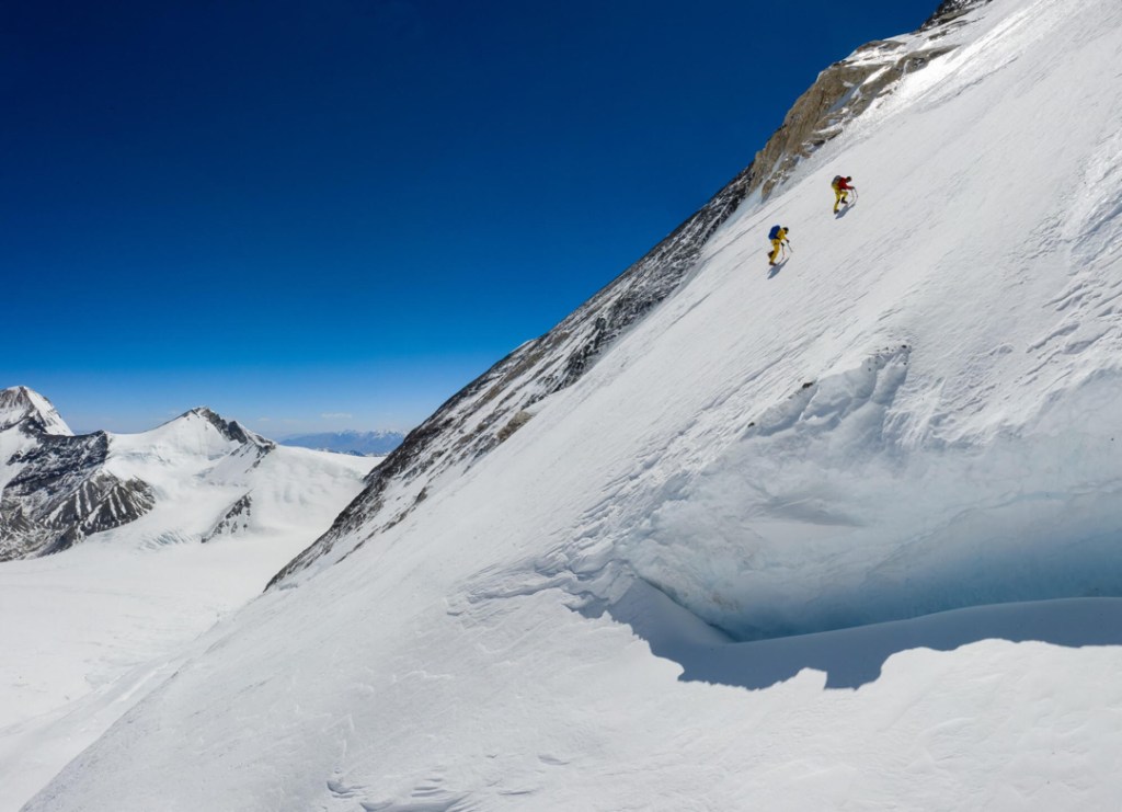
{"type": "Polygon", "coordinates": [[[206,407],[73,436],[26,387],[0,391],[0,425],[7,812],[258,594],[377,460],[279,447],[206,407]]]}

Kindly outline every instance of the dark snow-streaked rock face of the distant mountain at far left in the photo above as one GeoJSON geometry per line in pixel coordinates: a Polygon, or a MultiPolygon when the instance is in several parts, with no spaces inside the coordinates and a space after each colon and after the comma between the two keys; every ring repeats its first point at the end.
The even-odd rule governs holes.
{"type": "Polygon", "coordinates": [[[15,431],[38,442],[8,460],[19,471],[0,495],[0,561],[66,550],[144,516],[155,505],[146,482],[123,481],[102,470],[109,455],[104,432],[50,435],[34,418],[15,431]]]}

